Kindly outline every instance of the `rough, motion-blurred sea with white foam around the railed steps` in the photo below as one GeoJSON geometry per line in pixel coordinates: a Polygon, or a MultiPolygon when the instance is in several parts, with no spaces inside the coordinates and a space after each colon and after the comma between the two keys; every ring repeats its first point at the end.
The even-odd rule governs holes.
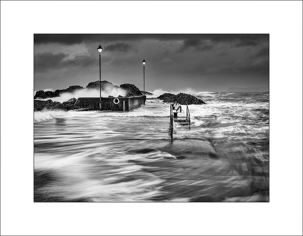
{"type": "Polygon", "coordinates": [[[35,112],[34,201],[268,202],[269,93],[198,98],[173,141],[170,104],[153,98],[129,112],[35,112]]]}

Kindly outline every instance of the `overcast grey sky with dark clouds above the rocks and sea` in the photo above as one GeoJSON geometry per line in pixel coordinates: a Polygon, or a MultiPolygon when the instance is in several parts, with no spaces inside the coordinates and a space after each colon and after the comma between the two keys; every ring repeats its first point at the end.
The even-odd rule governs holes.
{"type": "Polygon", "coordinates": [[[143,90],[226,91],[268,86],[268,34],[35,34],[34,89],[99,79],[143,90]]]}

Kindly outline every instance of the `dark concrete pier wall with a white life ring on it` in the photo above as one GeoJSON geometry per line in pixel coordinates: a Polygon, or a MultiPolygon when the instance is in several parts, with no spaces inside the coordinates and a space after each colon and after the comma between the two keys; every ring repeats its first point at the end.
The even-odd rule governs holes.
{"type": "MultiPolygon", "coordinates": [[[[101,98],[102,111],[131,111],[144,105],[146,96],[101,98]],[[118,100],[117,100],[118,99],[118,100]],[[118,104],[114,103],[118,102],[118,104]]],[[[100,98],[78,98],[75,103],[79,107],[99,110],[100,98]]]]}

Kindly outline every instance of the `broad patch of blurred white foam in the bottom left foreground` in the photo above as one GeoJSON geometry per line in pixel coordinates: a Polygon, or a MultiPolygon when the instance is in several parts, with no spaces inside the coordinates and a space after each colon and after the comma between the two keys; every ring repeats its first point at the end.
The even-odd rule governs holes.
{"type": "MultiPolygon", "coordinates": [[[[142,169],[141,166],[125,161],[123,158],[112,162],[111,156],[112,158],[109,158],[106,163],[111,167],[114,166],[115,170],[106,168],[101,174],[91,178],[90,171],[96,167],[91,162],[87,162],[85,157],[92,153],[99,155],[97,150],[78,152],[68,156],[35,154],[35,169],[57,171],[58,177],[62,176],[68,185],[56,183],[56,192],[53,192],[53,187],[49,187],[48,192],[55,195],[60,193],[66,199],[89,198],[90,201],[114,201],[118,198],[119,201],[142,201],[161,193],[155,186],[164,180],[151,173],[145,173],[144,178],[122,181],[120,174],[136,175],[142,169]],[[145,191],[146,188],[150,190],[145,191]]],[[[131,155],[126,160],[140,157],[141,155],[131,155]]],[[[105,163],[104,157],[96,160],[105,163]]]]}

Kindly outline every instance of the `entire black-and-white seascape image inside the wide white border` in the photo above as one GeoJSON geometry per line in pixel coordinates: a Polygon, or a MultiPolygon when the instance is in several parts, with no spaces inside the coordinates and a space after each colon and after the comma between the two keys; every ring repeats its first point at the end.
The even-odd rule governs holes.
{"type": "Polygon", "coordinates": [[[35,34],[35,202],[268,202],[268,34],[35,34]]]}

